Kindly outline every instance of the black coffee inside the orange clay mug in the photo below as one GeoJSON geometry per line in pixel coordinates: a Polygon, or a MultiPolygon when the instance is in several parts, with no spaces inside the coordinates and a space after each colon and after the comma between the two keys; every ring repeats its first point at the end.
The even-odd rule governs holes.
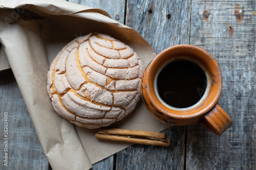
{"type": "Polygon", "coordinates": [[[177,60],[168,63],[157,77],[157,89],[162,100],[176,108],[196,104],[207,86],[206,75],[196,63],[177,60]]]}

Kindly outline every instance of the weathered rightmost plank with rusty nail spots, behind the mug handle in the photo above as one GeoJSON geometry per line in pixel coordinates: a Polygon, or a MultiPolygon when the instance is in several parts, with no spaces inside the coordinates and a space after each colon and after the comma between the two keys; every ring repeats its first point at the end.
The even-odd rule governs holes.
{"type": "Polygon", "coordinates": [[[256,169],[255,1],[193,1],[190,44],[219,63],[219,104],[233,120],[222,136],[188,128],[187,169],[256,169]]]}

